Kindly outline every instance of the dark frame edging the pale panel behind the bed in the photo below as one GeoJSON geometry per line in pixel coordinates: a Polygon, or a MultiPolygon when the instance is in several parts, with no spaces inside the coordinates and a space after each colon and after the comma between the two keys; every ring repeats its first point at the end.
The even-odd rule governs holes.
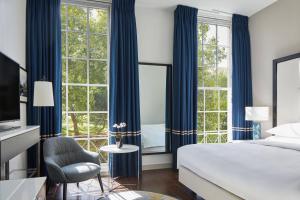
{"type": "Polygon", "coordinates": [[[277,126],[277,72],[278,64],[300,58],[300,53],[277,58],[273,60],[273,127],[277,126]]]}

